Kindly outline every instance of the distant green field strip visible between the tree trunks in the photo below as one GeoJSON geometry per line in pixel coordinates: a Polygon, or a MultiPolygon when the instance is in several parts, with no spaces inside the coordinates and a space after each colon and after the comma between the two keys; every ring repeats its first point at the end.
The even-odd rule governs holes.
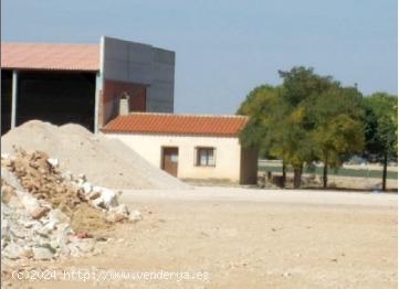
{"type": "MultiPolygon", "coordinates": [[[[282,172],[282,167],[279,164],[260,164],[259,171],[270,171],[270,172],[282,172]]],[[[293,172],[292,168],[287,169],[287,172],[293,172]]],[[[304,169],[304,173],[317,173],[318,175],[323,175],[323,168],[316,168],[315,171],[304,169]]],[[[340,168],[337,170],[328,170],[329,175],[340,175],[340,176],[358,176],[358,178],[382,178],[382,169],[381,170],[363,170],[363,169],[347,169],[340,168]]],[[[398,179],[397,171],[388,171],[388,179],[398,179]]]]}

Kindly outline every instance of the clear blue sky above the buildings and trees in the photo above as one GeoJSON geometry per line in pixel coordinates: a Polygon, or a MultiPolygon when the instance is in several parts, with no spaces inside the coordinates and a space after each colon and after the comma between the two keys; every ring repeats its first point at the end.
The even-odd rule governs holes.
{"type": "Polygon", "coordinates": [[[397,94],[396,0],[2,0],[2,41],[176,51],[175,110],[233,114],[277,69],[315,67],[364,94],[397,94]]]}

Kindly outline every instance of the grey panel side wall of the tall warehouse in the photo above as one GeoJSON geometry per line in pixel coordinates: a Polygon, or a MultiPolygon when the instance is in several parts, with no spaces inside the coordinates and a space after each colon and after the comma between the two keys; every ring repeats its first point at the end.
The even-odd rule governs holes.
{"type": "Polygon", "coordinates": [[[104,36],[104,81],[147,85],[147,111],[174,113],[175,52],[104,36]]]}

